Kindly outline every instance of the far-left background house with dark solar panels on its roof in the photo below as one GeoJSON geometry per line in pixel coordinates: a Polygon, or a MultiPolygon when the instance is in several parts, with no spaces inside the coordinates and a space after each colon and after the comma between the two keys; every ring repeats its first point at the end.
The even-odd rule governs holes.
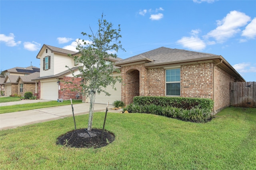
{"type": "MultiPolygon", "coordinates": [[[[15,68],[10,68],[8,70],[4,70],[2,71],[2,75],[4,75],[4,78],[1,77],[1,90],[2,91],[5,91],[5,87],[4,87],[4,81],[6,76],[27,76],[29,74],[32,74],[34,72],[40,72],[40,68],[38,67],[35,67],[35,66],[28,66],[28,67],[15,67],[15,68]],[[2,80],[3,79],[3,80],[2,80]]],[[[14,86],[14,85],[13,85],[14,86]]],[[[10,84],[8,85],[8,95],[5,95],[5,96],[10,96],[9,94],[11,93],[10,91],[10,84]]],[[[16,93],[14,93],[16,94],[16,93]]]]}

